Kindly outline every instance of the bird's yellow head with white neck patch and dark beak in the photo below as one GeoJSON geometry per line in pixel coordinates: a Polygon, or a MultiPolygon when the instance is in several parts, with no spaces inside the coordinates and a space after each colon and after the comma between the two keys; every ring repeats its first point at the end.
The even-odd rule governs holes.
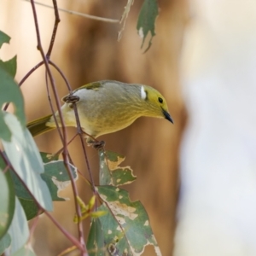
{"type": "Polygon", "coordinates": [[[158,90],[155,90],[148,85],[141,85],[140,96],[145,104],[144,106],[146,106],[145,115],[156,118],[164,118],[173,124],[172,117],[166,104],[166,99],[158,90]]]}

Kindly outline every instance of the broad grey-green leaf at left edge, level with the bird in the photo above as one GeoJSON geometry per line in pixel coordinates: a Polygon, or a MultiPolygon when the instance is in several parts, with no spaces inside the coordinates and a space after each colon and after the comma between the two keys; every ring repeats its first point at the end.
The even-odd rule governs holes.
{"type": "MultiPolygon", "coordinates": [[[[13,102],[15,104],[15,115],[19,119],[22,128],[25,128],[24,101],[19,86],[15,84],[10,74],[1,67],[0,81],[0,106],[3,106],[6,102],[13,102]]],[[[0,127],[0,138],[3,138],[5,141],[10,141],[12,133],[9,129],[9,125],[5,122],[3,111],[0,111],[0,127]]]]}

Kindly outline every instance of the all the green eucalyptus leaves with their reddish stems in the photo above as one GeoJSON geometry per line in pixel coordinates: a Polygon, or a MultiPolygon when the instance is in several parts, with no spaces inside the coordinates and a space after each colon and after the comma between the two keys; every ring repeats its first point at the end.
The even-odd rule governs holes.
{"type": "MultiPolygon", "coordinates": [[[[132,1],[128,3],[131,7],[132,1]]],[[[34,19],[37,20],[34,7],[32,1],[32,12],[34,19]]],[[[126,9],[125,17],[130,7],[126,9]]],[[[143,31],[143,44],[148,32],[151,32],[152,37],[154,36],[157,8],[155,0],[145,0],[143,3],[137,25],[140,34],[143,31]]],[[[57,9],[55,10],[56,15],[57,9]]],[[[57,20],[57,15],[55,18],[57,20]]],[[[57,23],[55,21],[55,31],[57,23]]],[[[49,49],[54,45],[55,31],[49,49]]],[[[37,36],[38,38],[40,36],[38,32],[37,36]]],[[[0,31],[0,48],[3,44],[9,44],[9,40],[9,36],[0,31]]],[[[148,48],[151,41],[152,38],[149,40],[148,48]]],[[[45,58],[44,49],[39,42],[38,49],[43,61],[32,70],[44,64],[54,89],[54,79],[49,70],[49,64],[52,63],[45,58]]],[[[0,150],[0,255],[7,251],[9,255],[35,255],[30,244],[32,234],[30,234],[27,220],[38,218],[39,214],[45,213],[57,225],[49,215],[53,210],[52,202],[64,201],[65,203],[66,199],[61,198],[58,192],[70,183],[73,185],[73,194],[77,198],[74,222],[78,224],[79,230],[82,230],[79,233],[79,240],[65,233],[61,226],[57,225],[57,227],[70,241],[73,241],[74,247],[80,250],[81,255],[141,255],[148,244],[152,244],[156,254],[160,255],[148,214],[142,203],[132,202],[128,192],[119,188],[136,180],[129,166],[119,166],[125,160],[124,156],[105,149],[98,150],[99,185],[95,186],[92,179],[87,181],[94,195],[86,205],[81,201],[76,189],[75,181],[79,175],[77,168],[71,164],[67,156],[66,138],[62,137],[63,160],[59,160],[59,154],[38,151],[36,143],[26,128],[24,100],[19,87],[32,72],[27,73],[25,79],[18,85],[14,79],[16,68],[16,56],[9,61],[0,60],[0,104],[3,106],[7,102],[12,102],[15,106],[15,113],[5,111],[8,105],[0,111],[0,141],[4,149],[4,151],[0,150]],[[98,201],[97,207],[96,201],[98,201]],[[84,218],[90,218],[91,222],[86,247],[81,243],[84,239],[81,224],[84,218]]],[[[61,75],[65,77],[64,74],[61,73],[61,75]]],[[[57,97],[55,101],[58,102],[57,97]]],[[[78,136],[81,134],[78,133],[78,136]]],[[[90,166],[88,167],[90,169],[90,166]]],[[[67,249],[69,250],[71,249],[67,249]]]]}

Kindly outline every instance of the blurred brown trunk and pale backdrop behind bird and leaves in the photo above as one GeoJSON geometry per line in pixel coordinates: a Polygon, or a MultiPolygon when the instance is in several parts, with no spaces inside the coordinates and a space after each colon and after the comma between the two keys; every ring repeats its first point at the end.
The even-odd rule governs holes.
{"type": "MultiPolygon", "coordinates": [[[[50,1],[44,3],[51,4],[50,1]]],[[[88,20],[60,12],[61,23],[51,60],[72,85],[101,79],[154,86],[166,97],[175,121],[141,118],[123,131],[101,137],[106,148],[124,154],[137,181],[125,186],[131,200],[146,208],[164,256],[256,255],[256,3],[239,0],[159,0],[156,36],[146,54],[136,31],[143,1],[135,1],[125,31],[119,24],[88,20]],[[175,245],[175,246],[174,246],[175,245]]],[[[120,19],[126,1],[61,1],[60,7],[120,19]]],[[[36,49],[31,4],[1,0],[0,29],[12,38],[1,58],[18,55],[19,82],[41,61],[36,49]]],[[[54,11],[37,6],[44,50],[54,11]]],[[[67,88],[55,73],[60,97],[67,88]]],[[[50,113],[44,67],[22,85],[27,120],[50,113]]],[[[71,138],[74,129],[68,130],[71,138]]],[[[36,138],[41,151],[56,152],[55,131],[36,138]]],[[[70,153],[87,175],[79,141],[70,153]]],[[[88,148],[94,178],[98,157],[88,148]]],[[[80,179],[84,201],[90,189],[80,179]]],[[[53,215],[68,231],[73,224],[70,201],[55,203],[53,215]]],[[[86,229],[88,222],[84,222],[86,229]]],[[[42,216],[33,238],[35,252],[56,255],[71,243],[42,216]]],[[[154,255],[147,247],[143,255],[154,255]]]]}

